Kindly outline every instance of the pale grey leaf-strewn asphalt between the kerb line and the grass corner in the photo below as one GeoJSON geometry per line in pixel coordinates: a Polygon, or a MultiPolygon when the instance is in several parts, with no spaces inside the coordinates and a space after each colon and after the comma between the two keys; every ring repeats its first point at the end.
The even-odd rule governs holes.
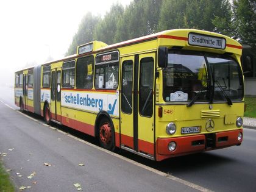
{"type": "Polygon", "coordinates": [[[197,191],[43,126],[3,102],[0,138],[0,158],[17,190],[77,191],[79,183],[83,191],[197,191]]]}

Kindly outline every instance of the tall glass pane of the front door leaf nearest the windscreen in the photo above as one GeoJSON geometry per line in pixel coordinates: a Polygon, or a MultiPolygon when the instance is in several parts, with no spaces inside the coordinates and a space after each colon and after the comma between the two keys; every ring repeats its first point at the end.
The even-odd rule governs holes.
{"type": "Polygon", "coordinates": [[[139,112],[142,116],[153,114],[154,59],[140,60],[139,112]]]}

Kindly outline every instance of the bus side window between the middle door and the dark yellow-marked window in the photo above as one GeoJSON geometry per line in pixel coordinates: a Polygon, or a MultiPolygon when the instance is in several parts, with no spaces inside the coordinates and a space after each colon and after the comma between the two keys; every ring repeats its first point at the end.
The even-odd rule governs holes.
{"type": "Polygon", "coordinates": [[[75,81],[75,62],[64,62],[62,66],[62,87],[63,88],[74,88],[75,81]]]}

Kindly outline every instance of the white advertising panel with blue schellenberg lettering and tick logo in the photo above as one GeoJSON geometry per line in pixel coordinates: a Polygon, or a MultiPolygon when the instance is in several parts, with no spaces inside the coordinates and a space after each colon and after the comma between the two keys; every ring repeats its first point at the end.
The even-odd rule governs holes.
{"type": "Polygon", "coordinates": [[[62,106],[99,112],[104,110],[110,115],[119,116],[119,92],[116,94],[84,93],[62,90],[62,106]]]}

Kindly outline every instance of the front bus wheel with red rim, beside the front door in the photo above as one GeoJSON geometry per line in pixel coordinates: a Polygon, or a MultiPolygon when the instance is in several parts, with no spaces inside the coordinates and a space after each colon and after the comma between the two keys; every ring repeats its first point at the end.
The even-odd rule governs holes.
{"type": "Polygon", "coordinates": [[[109,151],[115,150],[115,130],[107,118],[102,118],[98,127],[99,144],[109,151]]]}

